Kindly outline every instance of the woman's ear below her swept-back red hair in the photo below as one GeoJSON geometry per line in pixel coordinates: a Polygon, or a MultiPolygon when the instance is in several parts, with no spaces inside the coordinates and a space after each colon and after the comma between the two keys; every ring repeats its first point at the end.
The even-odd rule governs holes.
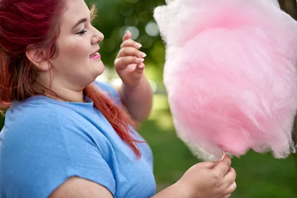
{"type": "Polygon", "coordinates": [[[46,50],[30,49],[26,51],[27,58],[42,71],[48,71],[51,67],[49,61],[46,61],[46,50]]]}

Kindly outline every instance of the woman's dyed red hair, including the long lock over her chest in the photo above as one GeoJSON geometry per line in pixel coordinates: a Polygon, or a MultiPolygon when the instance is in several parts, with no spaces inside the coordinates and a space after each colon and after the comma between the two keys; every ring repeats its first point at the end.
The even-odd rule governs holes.
{"type": "MultiPolygon", "coordinates": [[[[43,95],[36,90],[39,70],[26,56],[30,49],[48,49],[47,60],[58,53],[55,40],[59,34],[59,17],[65,10],[65,0],[0,0],[0,109],[10,107],[13,100],[22,101],[43,95]]],[[[95,16],[95,6],[91,9],[95,16]]],[[[116,133],[135,152],[141,152],[129,126],[135,123],[93,85],[84,89],[94,106],[109,121],[116,133]]],[[[0,110],[3,114],[3,111],[0,110]]]]}

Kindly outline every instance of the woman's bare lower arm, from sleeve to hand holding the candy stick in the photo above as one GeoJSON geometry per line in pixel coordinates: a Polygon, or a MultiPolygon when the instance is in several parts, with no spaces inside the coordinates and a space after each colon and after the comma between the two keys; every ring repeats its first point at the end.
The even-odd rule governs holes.
{"type": "MultiPolygon", "coordinates": [[[[151,198],[229,198],[237,187],[236,173],[230,165],[229,155],[221,162],[195,164],[175,184],[151,198]]],[[[49,198],[112,198],[112,194],[98,183],[74,177],[49,198]]]]}

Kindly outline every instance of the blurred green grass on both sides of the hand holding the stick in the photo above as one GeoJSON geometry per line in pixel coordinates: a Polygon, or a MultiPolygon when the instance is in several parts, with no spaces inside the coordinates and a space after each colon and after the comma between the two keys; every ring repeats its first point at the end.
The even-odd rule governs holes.
{"type": "MultiPolygon", "coordinates": [[[[175,183],[195,163],[185,144],[177,138],[165,96],[154,97],[151,116],[139,130],[154,153],[157,191],[175,183]]],[[[294,157],[275,159],[271,153],[249,151],[232,159],[237,171],[237,190],[232,198],[297,198],[294,157]]]]}

